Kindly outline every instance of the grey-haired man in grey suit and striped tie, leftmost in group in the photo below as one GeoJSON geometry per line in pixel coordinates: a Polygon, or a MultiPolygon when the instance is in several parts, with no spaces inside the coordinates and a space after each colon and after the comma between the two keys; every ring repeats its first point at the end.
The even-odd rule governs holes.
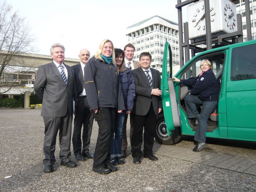
{"type": "Polygon", "coordinates": [[[71,125],[73,117],[73,97],[76,87],[73,69],[63,63],[65,48],[60,43],[53,44],[50,53],[53,61],[39,66],[34,89],[41,99],[41,116],[44,118],[44,172],[53,172],[55,144],[59,131],[61,165],[75,167],[70,160],[71,125]]]}

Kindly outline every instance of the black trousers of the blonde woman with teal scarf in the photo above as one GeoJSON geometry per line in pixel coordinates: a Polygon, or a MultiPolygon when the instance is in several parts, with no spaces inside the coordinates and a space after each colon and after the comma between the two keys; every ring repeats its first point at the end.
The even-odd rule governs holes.
{"type": "Polygon", "coordinates": [[[114,132],[116,121],[116,108],[99,108],[93,116],[99,125],[99,133],[93,156],[93,167],[105,167],[110,163],[111,132],[114,132]]]}

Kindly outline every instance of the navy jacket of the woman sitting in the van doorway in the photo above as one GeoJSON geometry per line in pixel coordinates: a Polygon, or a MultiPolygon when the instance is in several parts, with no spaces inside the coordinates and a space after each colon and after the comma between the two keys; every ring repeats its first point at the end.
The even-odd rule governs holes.
{"type": "Polygon", "coordinates": [[[182,79],[180,84],[194,86],[190,94],[198,95],[202,101],[215,101],[218,99],[220,86],[212,69],[204,72],[201,77],[198,75],[192,79],[182,79]]]}

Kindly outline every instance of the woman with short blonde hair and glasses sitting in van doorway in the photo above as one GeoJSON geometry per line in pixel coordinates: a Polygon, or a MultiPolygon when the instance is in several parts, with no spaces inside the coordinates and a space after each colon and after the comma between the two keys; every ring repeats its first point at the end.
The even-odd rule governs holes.
{"type": "Polygon", "coordinates": [[[194,119],[193,126],[198,126],[194,137],[196,141],[194,152],[199,152],[205,148],[207,121],[217,107],[220,86],[211,68],[212,64],[209,60],[204,59],[200,63],[202,72],[197,77],[184,80],[172,77],[174,81],[180,82],[180,84],[194,86],[190,95],[184,97],[188,118],[194,119]],[[200,114],[197,105],[202,106],[200,114]]]}

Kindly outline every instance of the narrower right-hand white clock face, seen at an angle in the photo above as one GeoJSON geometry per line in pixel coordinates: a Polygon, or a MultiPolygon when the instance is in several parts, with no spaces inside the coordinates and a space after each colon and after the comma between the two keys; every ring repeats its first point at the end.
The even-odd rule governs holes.
{"type": "Polygon", "coordinates": [[[223,9],[226,25],[231,31],[234,30],[236,26],[236,12],[233,9],[234,8],[231,3],[227,3],[223,9]]]}

